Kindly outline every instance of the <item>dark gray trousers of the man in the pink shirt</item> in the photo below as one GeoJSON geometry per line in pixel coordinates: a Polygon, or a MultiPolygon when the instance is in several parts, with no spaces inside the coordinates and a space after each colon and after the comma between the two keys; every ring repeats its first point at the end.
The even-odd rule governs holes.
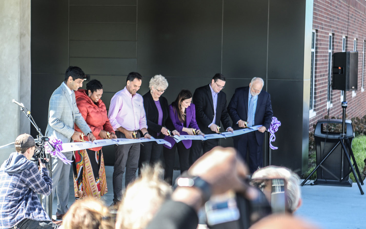
{"type": "MultiPolygon", "coordinates": [[[[126,138],[123,133],[116,131],[117,138],[126,138]]],[[[139,138],[140,134],[137,133],[139,138]]],[[[136,179],[138,159],[140,157],[140,144],[115,145],[115,164],[113,167],[113,202],[121,201],[122,197],[122,177],[126,168],[124,186],[136,179]]]]}

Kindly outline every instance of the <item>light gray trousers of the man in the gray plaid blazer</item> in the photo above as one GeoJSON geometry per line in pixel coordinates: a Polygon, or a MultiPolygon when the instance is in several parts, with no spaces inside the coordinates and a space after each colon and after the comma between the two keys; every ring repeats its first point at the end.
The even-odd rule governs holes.
{"type": "MultiPolygon", "coordinates": [[[[63,153],[68,160],[72,160],[72,152],[63,153]]],[[[58,157],[52,156],[52,201],[57,196],[57,212],[65,214],[68,210],[67,203],[70,192],[70,168],[71,165],[64,164],[58,157]]],[[[42,207],[46,209],[46,196],[42,198],[42,207]]]]}

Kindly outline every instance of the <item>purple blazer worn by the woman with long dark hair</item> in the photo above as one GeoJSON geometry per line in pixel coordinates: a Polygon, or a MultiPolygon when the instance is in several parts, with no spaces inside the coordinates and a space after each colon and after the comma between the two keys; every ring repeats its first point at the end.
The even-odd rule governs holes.
{"type": "MultiPolygon", "coordinates": [[[[187,132],[182,131],[183,127],[193,128],[193,129],[199,130],[197,122],[196,122],[196,111],[195,111],[193,103],[191,103],[191,106],[189,106],[186,109],[186,123],[184,123],[184,125],[183,125],[182,122],[179,121],[178,114],[177,113],[174,114],[172,104],[169,105],[169,118],[172,120],[175,129],[180,134],[188,135],[187,132]]],[[[164,140],[170,142],[172,144],[172,147],[175,144],[174,139],[170,136],[165,136],[164,140]]],[[[186,149],[189,149],[192,146],[192,140],[182,140],[182,143],[183,143],[184,147],[186,147],[186,149]]],[[[164,146],[168,149],[172,148],[172,147],[169,147],[167,145],[164,145],[164,146]]]]}

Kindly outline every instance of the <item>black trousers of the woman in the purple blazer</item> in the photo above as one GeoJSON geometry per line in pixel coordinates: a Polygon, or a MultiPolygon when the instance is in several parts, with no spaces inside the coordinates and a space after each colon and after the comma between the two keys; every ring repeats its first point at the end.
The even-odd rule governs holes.
{"type": "Polygon", "coordinates": [[[189,149],[183,145],[180,141],[173,145],[171,149],[165,148],[163,149],[164,160],[165,160],[165,171],[164,171],[164,180],[168,184],[172,184],[173,181],[173,167],[175,161],[175,149],[178,149],[179,155],[179,165],[180,165],[180,174],[184,171],[187,171],[189,168],[188,157],[189,157],[189,149]]]}

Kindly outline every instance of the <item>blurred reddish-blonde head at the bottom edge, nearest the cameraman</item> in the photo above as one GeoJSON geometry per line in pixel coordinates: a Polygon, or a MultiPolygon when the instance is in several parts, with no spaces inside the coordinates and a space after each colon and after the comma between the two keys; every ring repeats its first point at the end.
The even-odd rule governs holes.
{"type": "Polygon", "coordinates": [[[63,229],[114,229],[108,208],[96,199],[77,200],[67,211],[63,229]]]}

